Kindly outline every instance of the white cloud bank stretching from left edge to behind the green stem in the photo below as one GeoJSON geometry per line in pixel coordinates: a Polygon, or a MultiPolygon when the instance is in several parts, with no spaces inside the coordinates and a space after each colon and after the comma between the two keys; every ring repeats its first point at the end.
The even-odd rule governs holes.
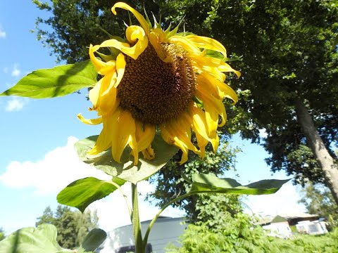
{"type": "MultiPolygon", "coordinates": [[[[87,176],[110,179],[111,176],[79,160],[73,148],[76,141],[77,138],[68,137],[67,145],[51,150],[43,160],[37,162],[11,162],[4,174],[0,175],[0,182],[10,188],[32,188],[35,190],[35,194],[56,196],[60,190],[77,179],[87,176]]],[[[153,191],[154,186],[147,181],[139,182],[137,186],[141,194],[139,195],[140,219],[142,221],[153,219],[158,208],[145,202],[144,196],[153,191]]],[[[131,205],[130,183],[125,183],[121,188],[131,205]]],[[[89,205],[89,209],[97,210],[100,227],[105,231],[111,231],[131,223],[125,199],[119,190],[115,190],[108,197],[92,203],[89,205]]],[[[183,212],[169,207],[162,215],[177,217],[182,216],[183,212]]]]}

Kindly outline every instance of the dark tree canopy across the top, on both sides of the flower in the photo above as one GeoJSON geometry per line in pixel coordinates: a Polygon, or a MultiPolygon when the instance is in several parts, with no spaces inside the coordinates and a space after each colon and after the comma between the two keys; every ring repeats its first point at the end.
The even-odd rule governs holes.
{"type": "MultiPolygon", "coordinates": [[[[73,63],[87,58],[87,46],[111,34],[123,34],[121,11],[111,15],[115,1],[63,0],[37,24],[39,39],[51,46],[59,60],[73,63]]],[[[230,132],[261,143],[270,153],[273,171],[285,170],[296,183],[324,182],[338,202],[337,157],[337,11],[338,1],[315,0],[183,0],[127,1],[139,11],[161,15],[163,25],[213,37],[225,45],[232,66],[242,72],[234,82],[240,95],[230,116],[230,132]],[[181,27],[182,28],[182,27],[181,27]],[[259,130],[265,129],[266,138],[259,130]]],[[[127,22],[127,21],[126,21],[127,22]]],[[[231,111],[230,111],[231,112],[231,111]]]]}

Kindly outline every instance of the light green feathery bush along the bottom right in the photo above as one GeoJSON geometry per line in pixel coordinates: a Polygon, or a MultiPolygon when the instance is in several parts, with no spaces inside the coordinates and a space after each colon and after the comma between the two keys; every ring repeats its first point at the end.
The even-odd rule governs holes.
{"type": "Polygon", "coordinates": [[[223,224],[223,229],[210,229],[206,224],[189,225],[182,235],[182,247],[170,245],[166,252],[330,252],[337,253],[338,229],[325,235],[295,235],[284,240],[265,235],[261,227],[253,227],[248,216],[237,216],[223,224]]]}

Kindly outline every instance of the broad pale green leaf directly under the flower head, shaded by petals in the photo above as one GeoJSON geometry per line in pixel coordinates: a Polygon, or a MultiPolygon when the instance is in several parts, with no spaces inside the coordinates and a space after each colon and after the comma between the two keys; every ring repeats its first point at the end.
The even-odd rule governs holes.
{"type": "Polygon", "coordinates": [[[130,155],[130,151],[125,149],[121,157],[121,163],[118,163],[113,160],[111,150],[107,150],[96,156],[87,155],[87,152],[93,148],[96,139],[97,136],[90,136],[75,143],[75,150],[80,159],[87,164],[93,165],[96,169],[101,169],[101,171],[106,172],[108,175],[117,176],[131,183],[148,179],[158,169],[161,169],[178,151],[178,148],[165,143],[161,136],[156,134],[151,144],[155,150],[154,160],[146,160],[140,153],[139,162],[137,165],[134,165],[134,157],[130,155]]]}

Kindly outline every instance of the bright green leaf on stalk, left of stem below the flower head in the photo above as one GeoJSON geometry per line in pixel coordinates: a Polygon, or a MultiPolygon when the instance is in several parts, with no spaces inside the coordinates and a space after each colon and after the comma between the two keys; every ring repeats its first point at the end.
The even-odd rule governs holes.
{"type": "MultiPolygon", "coordinates": [[[[84,212],[84,209],[92,202],[101,200],[101,198],[106,197],[117,189],[111,182],[95,179],[94,177],[79,179],[61,190],[58,193],[57,200],[60,204],[76,207],[81,212],[84,212]]],[[[113,183],[122,186],[125,181],[114,178],[113,183]]]]}

